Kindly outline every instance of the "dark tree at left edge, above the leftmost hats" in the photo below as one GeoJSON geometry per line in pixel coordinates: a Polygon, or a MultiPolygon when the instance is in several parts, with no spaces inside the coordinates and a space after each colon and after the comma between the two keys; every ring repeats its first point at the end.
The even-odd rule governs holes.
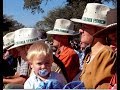
{"type": "Polygon", "coordinates": [[[25,27],[22,23],[14,20],[12,16],[3,15],[3,35],[8,32],[15,31],[17,29],[25,27]]]}

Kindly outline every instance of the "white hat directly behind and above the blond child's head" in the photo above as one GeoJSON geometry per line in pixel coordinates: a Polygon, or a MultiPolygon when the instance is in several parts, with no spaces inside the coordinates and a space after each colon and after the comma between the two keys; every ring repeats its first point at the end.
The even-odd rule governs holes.
{"type": "Polygon", "coordinates": [[[34,28],[21,28],[15,31],[14,45],[9,49],[39,41],[38,31],[34,28]]]}

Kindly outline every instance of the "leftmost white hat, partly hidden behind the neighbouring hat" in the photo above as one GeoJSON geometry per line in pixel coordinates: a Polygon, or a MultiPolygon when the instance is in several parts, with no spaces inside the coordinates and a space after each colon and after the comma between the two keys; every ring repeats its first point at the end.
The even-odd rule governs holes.
{"type": "Polygon", "coordinates": [[[3,49],[8,49],[14,45],[14,32],[9,32],[3,36],[3,49]]]}

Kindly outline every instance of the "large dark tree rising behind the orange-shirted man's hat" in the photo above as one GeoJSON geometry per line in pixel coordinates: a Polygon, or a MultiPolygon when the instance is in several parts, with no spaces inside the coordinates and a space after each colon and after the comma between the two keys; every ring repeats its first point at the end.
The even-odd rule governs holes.
{"type": "MultiPolygon", "coordinates": [[[[55,20],[58,18],[65,19],[82,18],[86,4],[88,2],[93,2],[94,0],[69,0],[69,1],[71,1],[71,3],[69,3],[68,5],[65,5],[64,7],[57,7],[49,11],[48,15],[45,16],[42,21],[38,21],[35,27],[41,30],[48,31],[54,28],[55,20]]],[[[101,0],[96,0],[96,2],[99,1],[101,0]]],[[[79,25],[79,23],[75,23],[75,30],[78,30],[78,28],[80,27],[81,26],[79,25]]]]}

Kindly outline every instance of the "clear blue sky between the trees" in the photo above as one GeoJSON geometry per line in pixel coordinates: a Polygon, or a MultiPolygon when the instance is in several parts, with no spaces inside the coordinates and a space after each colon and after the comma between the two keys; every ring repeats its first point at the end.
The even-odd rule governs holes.
{"type": "MultiPolygon", "coordinates": [[[[33,15],[30,10],[23,9],[24,0],[3,0],[3,14],[13,16],[14,20],[17,20],[26,27],[33,27],[36,22],[42,20],[50,10],[58,6],[62,7],[65,3],[66,0],[51,0],[47,5],[45,3],[42,4],[42,8],[45,10],[44,13],[36,13],[33,15]]],[[[105,4],[112,8],[111,3],[105,4]]]]}

